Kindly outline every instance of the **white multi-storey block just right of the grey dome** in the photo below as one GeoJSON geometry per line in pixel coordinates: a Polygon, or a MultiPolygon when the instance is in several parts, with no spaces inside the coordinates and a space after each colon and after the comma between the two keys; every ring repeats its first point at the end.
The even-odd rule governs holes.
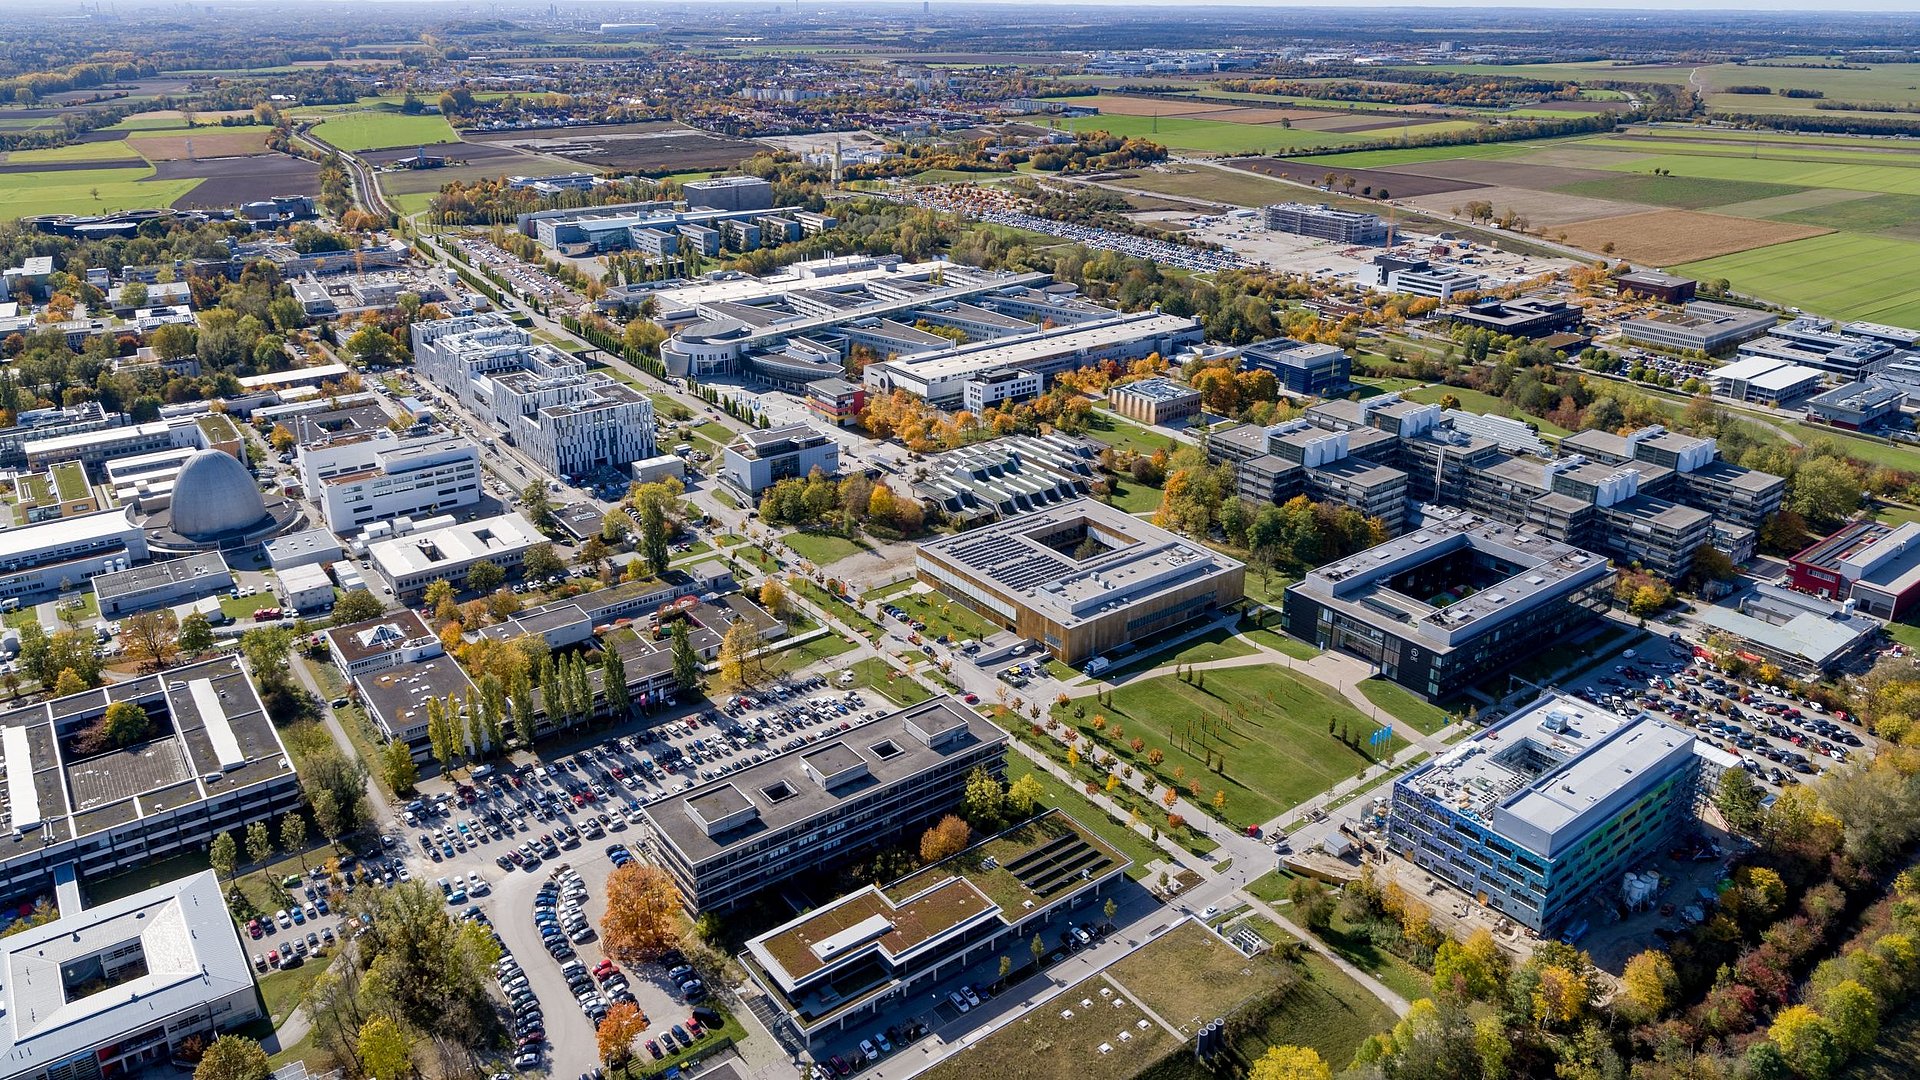
{"type": "Polygon", "coordinates": [[[326,438],[300,448],[307,496],[334,532],[374,521],[445,513],[480,502],[480,448],[457,434],[390,430],[326,438]]]}

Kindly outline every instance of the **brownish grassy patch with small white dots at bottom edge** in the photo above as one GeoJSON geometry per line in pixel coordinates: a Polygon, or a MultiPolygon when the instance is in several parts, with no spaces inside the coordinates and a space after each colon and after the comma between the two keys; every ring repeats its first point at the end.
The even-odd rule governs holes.
{"type": "MultiPolygon", "coordinates": [[[[1020,963],[1023,957],[1016,957],[1020,963]]],[[[1043,1009],[1033,1009],[998,1032],[922,1072],[927,1080],[1127,1080],[1142,1061],[1179,1049],[1165,1028],[1139,1005],[1108,1005],[1104,980],[1094,976],[1043,1009]],[[1075,1005],[1079,999],[1092,1007],[1075,1005]],[[1146,1022],[1140,1028],[1140,1022],[1146,1022]],[[1125,1032],[1125,1038],[1121,1034],[1125,1032]],[[1100,1047],[1106,1047],[1104,1051],[1100,1047]]],[[[1117,995],[1116,995],[1117,997],[1117,995]]]]}

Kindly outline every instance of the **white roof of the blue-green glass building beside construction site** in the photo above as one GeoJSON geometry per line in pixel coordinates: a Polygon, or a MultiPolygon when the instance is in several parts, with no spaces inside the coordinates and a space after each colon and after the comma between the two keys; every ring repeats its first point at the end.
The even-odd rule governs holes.
{"type": "Polygon", "coordinates": [[[1693,753],[1693,736],[1548,692],[1398,782],[1553,859],[1609,821],[1653,773],[1693,753]]]}

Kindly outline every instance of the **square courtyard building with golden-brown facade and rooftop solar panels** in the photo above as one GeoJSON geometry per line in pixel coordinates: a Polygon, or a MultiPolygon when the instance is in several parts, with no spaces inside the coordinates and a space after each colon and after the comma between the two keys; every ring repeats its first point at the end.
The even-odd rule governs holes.
{"type": "Polygon", "coordinates": [[[1208,619],[1240,600],[1246,577],[1242,563],[1094,500],[931,540],[914,569],[1064,663],[1208,619]]]}

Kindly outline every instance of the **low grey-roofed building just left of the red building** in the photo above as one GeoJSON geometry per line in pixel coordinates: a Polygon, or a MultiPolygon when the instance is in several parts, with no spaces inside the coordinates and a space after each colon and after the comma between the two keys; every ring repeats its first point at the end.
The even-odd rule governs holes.
{"type": "Polygon", "coordinates": [[[1695,619],[1705,642],[1730,638],[1747,663],[1770,663],[1788,678],[1811,682],[1872,653],[1882,630],[1880,621],[1853,600],[1836,601],[1776,584],[1753,586],[1734,607],[1699,607],[1695,619]]]}

